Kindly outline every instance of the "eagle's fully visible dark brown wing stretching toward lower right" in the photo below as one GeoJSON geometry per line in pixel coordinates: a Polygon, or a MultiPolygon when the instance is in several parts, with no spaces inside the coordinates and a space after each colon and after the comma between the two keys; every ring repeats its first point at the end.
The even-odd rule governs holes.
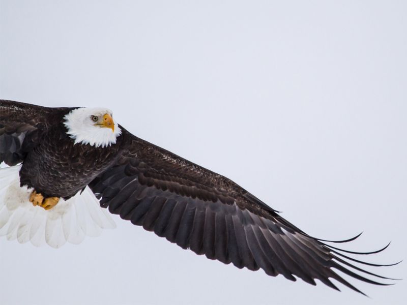
{"type": "Polygon", "coordinates": [[[261,268],[292,281],[296,276],[312,285],[319,279],[337,289],[329,280],[333,278],[359,291],[332,270],[336,268],[358,280],[384,285],[348,269],[373,275],[344,261],[336,248],[305,234],[233,181],[124,129],[122,136],[117,164],[90,184],[102,198],[102,207],[113,214],[184,249],[238,268],[261,268]]]}

